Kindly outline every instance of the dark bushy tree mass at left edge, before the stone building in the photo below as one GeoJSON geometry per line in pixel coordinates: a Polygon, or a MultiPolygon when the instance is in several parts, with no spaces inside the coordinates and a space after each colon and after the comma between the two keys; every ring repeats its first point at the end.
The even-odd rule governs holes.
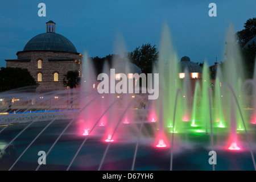
{"type": "Polygon", "coordinates": [[[24,68],[1,68],[0,70],[0,92],[11,89],[32,86],[32,91],[38,86],[30,72],[24,68]]]}

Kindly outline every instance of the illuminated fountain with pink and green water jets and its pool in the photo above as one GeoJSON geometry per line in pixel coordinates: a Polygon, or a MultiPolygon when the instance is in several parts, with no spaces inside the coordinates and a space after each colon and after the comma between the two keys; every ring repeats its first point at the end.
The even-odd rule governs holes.
{"type": "MultiPolygon", "coordinates": [[[[157,100],[148,100],[148,94],[141,93],[98,93],[97,78],[85,53],[81,84],[73,89],[72,107],[68,104],[71,98],[65,97],[67,90],[58,92],[58,96],[56,92],[40,97],[30,94],[31,98],[37,97],[33,104],[23,103],[18,107],[14,102],[11,107],[18,108],[15,113],[8,113],[7,105],[1,107],[0,123],[5,126],[0,127],[0,137],[8,142],[1,144],[0,140],[0,155],[12,145],[11,150],[17,155],[11,164],[1,167],[20,169],[19,163],[30,159],[23,156],[46,150],[47,161],[51,161],[48,165],[38,166],[36,158],[27,162],[31,164],[28,166],[36,170],[48,166],[61,170],[172,170],[185,168],[188,156],[203,160],[200,158],[207,155],[210,148],[222,159],[225,158],[222,155],[230,155],[227,163],[233,162],[233,155],[245,155],[246,163],[253,161],[255,169],[255,140],[251,138],[255,137],[256,73],[254,80],[248,82],[254,85],[253,106],[245,110],[243,101],[247,93],[242,87],[246,80],[233,34],[229,28],[227,57],[223,67],[218,68],[214,89],[210,86],[207,61],[193,87],[192,78],[185,77],[188,71],[179,75],[179,59],[171,44],[170,31],[164,26],[158,65],[153,68],[153,73],[159,73],[157,100]],[[15,123],[24,125],[13,125],[15,123]],[[68,155],[61,153],[66,150],[68,155]],[[251,156],[248,157],[249,151],[251,156]],[[59,159],[63,155],[65,159],[59,159]],[[54,159],[59,160],[54,163],[54,159]]],[[[114,64],[118,64],[116,61],[114,64]]],[[[129,60],[125,61],[129,64],[129,60]]],[[[110,67],[113,65],[105,64],[103,72],[110,73],[110,67]]],[[[129,72],[131,70],[126,70],[126,75],[129,72]]],[[[2,93],[1,97],[11,98],[14,94],[20,102],[29,95],[14,90],[2,93]]],[[[191,166],[185,169],[200,166],[198,161],[193,163],[192,158],[189,159],[191,166]]],[[[202,164],[199,169],[205,168],[209,165],[202,164]]]]}

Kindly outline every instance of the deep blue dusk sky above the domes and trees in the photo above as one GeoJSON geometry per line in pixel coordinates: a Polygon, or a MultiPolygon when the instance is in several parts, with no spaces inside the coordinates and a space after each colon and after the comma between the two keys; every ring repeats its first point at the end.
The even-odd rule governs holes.
{"type": "Polygon", "coordinates": [[[56,23],[56,33],[71,40],[77,52],[104,57],[115,53],[118,36],[126,51],[151,43],[159,48],[164,23],[179,56],[214,64],[224,60],[226,31],[243,29],[256,16],[255,0],[84,0],[2,1],[0,6],[0,67],[16,59],[28,40],[46,32],[46,22],[56,23]],[[38,4],[46,4],[46,17],[38,16],[38,4]],[[210,17],[209,3],[216,3],[217,16],[210,17]]]}

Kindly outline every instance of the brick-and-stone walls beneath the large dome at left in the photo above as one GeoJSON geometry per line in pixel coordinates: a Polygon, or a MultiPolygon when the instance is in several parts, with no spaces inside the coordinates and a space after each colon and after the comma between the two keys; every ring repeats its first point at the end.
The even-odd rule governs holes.
{"type": "Polygon", "coordinates": [[[82,55],[63,51],[22,51],[17,53],[18,60],[6,60],[6,67],[27,68],[38,82],[38,73],[42,73],[42,81],[38,82],[37,92],[47,90],[63,90],[63,78],[68,71],[81,71],[82,55]],[[24,61],[19,59],[31,59],[24,61]],[[42,60],[42,68],[38,68],[38,60],[42,60]],[[59,75],[54,81],[54,73],[59,75]]]}

